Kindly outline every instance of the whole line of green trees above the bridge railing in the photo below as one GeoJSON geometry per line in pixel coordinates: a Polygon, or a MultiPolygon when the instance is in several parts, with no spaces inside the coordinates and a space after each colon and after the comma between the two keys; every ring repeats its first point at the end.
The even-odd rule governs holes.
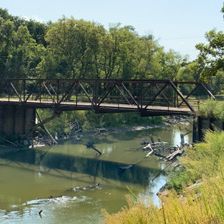
{"type": "Polygon", "coordinates": [[[224,34],[212,30],[189,61],[166,52],[152,36],[132,26],[61,18],[41,23],[0,9],[2,78],[121,78],[211,80],[223,78],[224,34]]]}

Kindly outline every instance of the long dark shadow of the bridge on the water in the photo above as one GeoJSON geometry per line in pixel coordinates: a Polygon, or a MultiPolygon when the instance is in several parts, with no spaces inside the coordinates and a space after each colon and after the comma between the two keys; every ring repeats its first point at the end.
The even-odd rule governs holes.
{"type": "Polygon", "coordinates": [[[147,186],[149,180],[160,173],[159,168],[143,167],[138,164],[124,164],[101,160],[100,157],[85,158],[60,153],[43,153],[41,150],[24,150],[1,155],[1,159],[20,163],[27,169],[29,165],[42,166],[48,169],[87,174],[93,177],[107,178],[116,181],[147,186]]]}

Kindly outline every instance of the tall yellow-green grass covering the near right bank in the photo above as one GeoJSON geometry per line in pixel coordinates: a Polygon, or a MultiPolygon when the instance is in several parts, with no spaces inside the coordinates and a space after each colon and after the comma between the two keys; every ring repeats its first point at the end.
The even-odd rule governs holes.
{"type": "Polygon", "coordinates": [[[216,224],[224,223],[224,133],[208,132],[205,142],[189,149],[181,163],[187,173],[181,193],[161,196],[161,207],[130,204],[105,215],[107,224],[216,224]],[[201,184],[190,185],[196,180],[201,184]]]}

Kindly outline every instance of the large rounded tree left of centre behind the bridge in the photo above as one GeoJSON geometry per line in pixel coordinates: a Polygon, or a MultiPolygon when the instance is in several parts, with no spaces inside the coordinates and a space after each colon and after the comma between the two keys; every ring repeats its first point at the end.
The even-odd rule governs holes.
{"type": "Polygon", "coordinates": [[[84,20],[61,19],[47,34],[47,55],[42,61],[46,77],[99,77],[99,58],[105,29],[84,20]]]}

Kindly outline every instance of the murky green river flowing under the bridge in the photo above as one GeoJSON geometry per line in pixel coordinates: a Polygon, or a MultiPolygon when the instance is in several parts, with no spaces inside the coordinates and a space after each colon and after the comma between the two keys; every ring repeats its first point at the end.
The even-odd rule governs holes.
{"type": "MultiPolygon", "coordinates": [[[[158,175],[164,164],[145,158],[140,143],[153,136],[178,145],[181,133],[186,130],[138,127],[92,136],[101,156],[85,146],[87,139],[1,155],[0,223],[98,224],[102,210],[119,211],[127,195],[158,205],[156,192],[166,183],[158,175]]],[[[191,139],[185,136],[186,142],[191,139]]]]}

